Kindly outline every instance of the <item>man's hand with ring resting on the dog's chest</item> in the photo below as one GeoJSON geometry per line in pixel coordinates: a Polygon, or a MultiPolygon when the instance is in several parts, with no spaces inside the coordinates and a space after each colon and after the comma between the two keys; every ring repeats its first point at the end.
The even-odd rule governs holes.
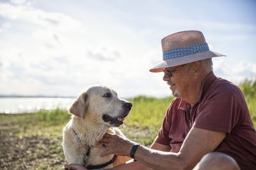
{"type": "Polygon", "coordinates": [[[122,138],[117,134],[104,134],[103,138],[94,145],[99,148],[106,148],[105,152],[100,154],[100,157],[104,157],[109,154],[115,154],[120,156],[130,156],[130,151],[135,143],[127,138],[122,138]]]}

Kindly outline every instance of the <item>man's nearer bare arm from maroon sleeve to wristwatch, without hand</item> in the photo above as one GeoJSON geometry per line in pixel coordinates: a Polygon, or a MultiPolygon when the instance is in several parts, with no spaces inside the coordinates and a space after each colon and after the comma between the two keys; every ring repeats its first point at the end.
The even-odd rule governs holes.
{"type": "Polygon", "coordinates": [[[214,151],[225,136],[225,132],[193,127],[179,153],[156,152],[141,146],[134,157],[154,169],[192,169],[206,153],[214,151]]]}

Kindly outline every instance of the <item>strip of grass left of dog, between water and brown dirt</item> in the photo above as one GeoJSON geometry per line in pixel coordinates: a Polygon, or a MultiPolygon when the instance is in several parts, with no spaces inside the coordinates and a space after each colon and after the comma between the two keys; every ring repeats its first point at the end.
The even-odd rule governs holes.
{"type": "Polygon", "coordinates": [[[45,137],[60,137],[62,129],[70,120],[71,115],[68,111],[57,108],[56,110],[40,110],[36,113],[22,113],[0,116],[1,124],[12,124],[11,127],[5,126],[4,129],[10,129],[21,136],[44,135],[45,137]],[[22,123],[18,123],[22,122],[22,123]]]}

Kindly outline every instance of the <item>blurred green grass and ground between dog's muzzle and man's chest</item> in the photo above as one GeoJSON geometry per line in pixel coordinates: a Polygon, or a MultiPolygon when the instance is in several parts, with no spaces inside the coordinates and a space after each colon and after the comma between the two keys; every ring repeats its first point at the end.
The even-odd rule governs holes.
{"type": "Polygon", "coordinates": [[[157,99],[146,96],[128,99],[132,103],[132,111],[121,127],[127,138],[150,146],[156,138],[172,99],[173,97],[157,99]]]}

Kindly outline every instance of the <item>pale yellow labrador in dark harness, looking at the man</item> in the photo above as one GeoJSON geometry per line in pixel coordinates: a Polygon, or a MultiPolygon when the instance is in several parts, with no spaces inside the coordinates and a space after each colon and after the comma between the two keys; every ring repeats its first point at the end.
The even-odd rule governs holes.
{"type": "Polygon", "coordinates": [[[118,98],[109,87],[93,86],[72,104],[72,118],[63,129],[63,152],[68,164],[81,164],[87,169],[109,169],[129,157],[107,155],[106,148],[93,147],[106,132],[124,136],[118,127],[131,111],[132,103],[118,98]]]}

